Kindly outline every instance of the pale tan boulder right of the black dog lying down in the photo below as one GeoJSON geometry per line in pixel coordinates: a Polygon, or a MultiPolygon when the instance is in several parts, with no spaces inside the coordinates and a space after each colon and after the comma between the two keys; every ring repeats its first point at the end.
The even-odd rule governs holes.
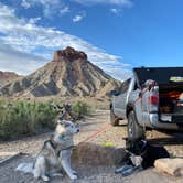
{"type": "Polygon", "coordinates": [[[173,176],[181,176],[183,175],[183,159],[175,158],[175,159],[159,159],[154,162],[154,166],[160,172],[165,172],[173,176]]]}

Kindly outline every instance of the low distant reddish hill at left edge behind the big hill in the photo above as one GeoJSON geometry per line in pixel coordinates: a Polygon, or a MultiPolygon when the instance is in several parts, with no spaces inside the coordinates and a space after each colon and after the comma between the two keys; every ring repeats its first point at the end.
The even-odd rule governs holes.
{"type": "Polygon", "coordinates": [[[13,82],[14,79],[20,78],[21,76],[19,76],[18,74],[13,73],[13,72],[2,72],[0,71],[0,87],[2,87],[3,85],[13,82]]]}

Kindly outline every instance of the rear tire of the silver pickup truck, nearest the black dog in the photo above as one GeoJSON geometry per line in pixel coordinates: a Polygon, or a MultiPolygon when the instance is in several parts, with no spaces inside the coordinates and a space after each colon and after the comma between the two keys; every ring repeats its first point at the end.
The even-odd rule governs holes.
{"type": "Polygon", "coordinates": [[[136,141],[139,139],[144,139],[146,131],[142,127],[139,126],[136,119],[134,111],[130,111],[128,115],[128,139],[130,141],[136,141]]]}

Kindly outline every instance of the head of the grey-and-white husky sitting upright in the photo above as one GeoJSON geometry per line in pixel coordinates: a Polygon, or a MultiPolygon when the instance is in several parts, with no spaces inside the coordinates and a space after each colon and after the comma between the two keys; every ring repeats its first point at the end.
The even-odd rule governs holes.
{"type": "Polygon", "coordinates": [[[60,133],[74,134],[78,133],[79,129],[69,120],[57,120],[57,131],[60,133]]]}

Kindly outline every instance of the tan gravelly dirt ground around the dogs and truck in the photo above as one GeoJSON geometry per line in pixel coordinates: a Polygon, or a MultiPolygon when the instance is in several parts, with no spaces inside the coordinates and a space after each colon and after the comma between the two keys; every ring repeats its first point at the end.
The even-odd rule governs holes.
{"type": "MultiPolygon", "coordinates": [[[[86,139],[95,130],[101,128],[109,122],[108,110],[97,110],[85,120],[79,121],[80,133],[75,138],[75,144],[86,139]]],[[[119,127],[108,127],[105,131],[90,139],[89,142],[96,146],[106,147],[108,144],[116,148],[123,148],[123,137],[127,136],[126,121],[121,121],[119,127]]],[[[21,140],[11,142],[0,142],[0,159],[4,159],[11,152],[23,152],[26,155],[20,155],[10,162],[0,165],[0,183],[35,183],[31,174],[23,174],[15,172],[14,169],[21,162],[31,162],[34,160],[36,153],[40,151],[43,141],[50,137],[51,133],[44,133],[36,137],[29,137],[21,140]]],[[[183,134],[177,132],[164,133],[158,131],[148,131],[148,140],[154,144],[163,144],[172,157],[183,157],[183,134]]],[[[90,154],[88,154],[90,155],[90,154]]],[[[105,157],[104,157],[105,158],[105,157]]],[[[94,157],[95,159],[95,157],[94,157]]],[[[77,170],[79,177],[76,183],[182,183],[183,177],[172,177],[166,174],[161,174],[155,169],[148,169],[146,171],[122,177],[120,174],[115,174],[116,166],[107,165],[82,165],[73,164],[77,170]]],[[[66,175],[63,177],[54,177],[51,180],[53,183],[67,183],[72,182],[66,175]]]]}

